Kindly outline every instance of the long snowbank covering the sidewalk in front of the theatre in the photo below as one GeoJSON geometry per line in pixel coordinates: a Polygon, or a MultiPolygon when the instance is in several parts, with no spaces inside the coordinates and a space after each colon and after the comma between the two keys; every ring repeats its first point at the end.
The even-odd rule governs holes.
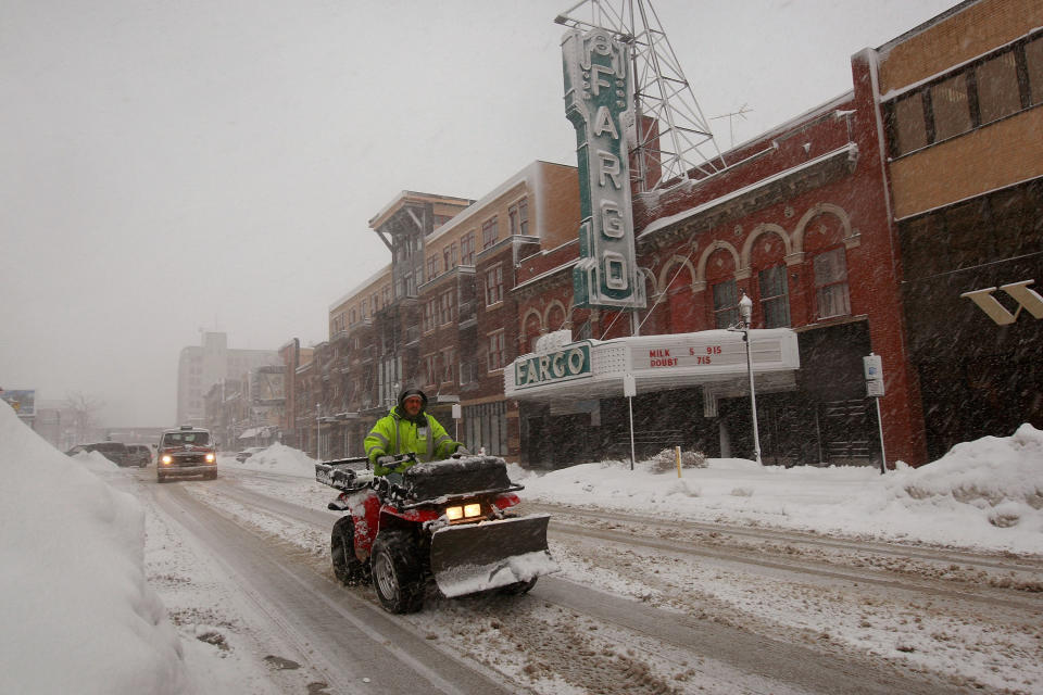
{"type": "Polygon", "coordinates": [[[543,475],[511,466],[525,498],[719,523],[884,541],[1043,553],[1043,432],[968,442],[913,469],[759,466],[709,458],[656,473],[653,462],[602,462],[543,475]]]}

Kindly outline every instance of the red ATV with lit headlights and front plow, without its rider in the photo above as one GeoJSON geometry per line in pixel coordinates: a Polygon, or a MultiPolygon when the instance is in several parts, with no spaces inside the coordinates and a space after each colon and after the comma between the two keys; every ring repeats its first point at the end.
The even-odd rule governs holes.
{"type": "MultiPolygon", "coordinates": [[[[412,458],[399,456],[397,462],[412,458]]],[[[495,590],[523,594],[557,571],[546,545],[550,515],[519,516],[523,486],[497,456],[454,456],[375,476],[365,457],[315,464],[340,490],[345,513],[330,538],[334,573],[347,585],[372,579],[389,612],[423,608],[428,579],[447,597],[495,590]]]]}

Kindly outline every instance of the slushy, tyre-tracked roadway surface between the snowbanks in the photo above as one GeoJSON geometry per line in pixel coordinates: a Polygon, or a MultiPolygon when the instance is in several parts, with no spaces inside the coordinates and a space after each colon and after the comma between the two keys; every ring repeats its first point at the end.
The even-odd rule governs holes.
{"type": "Polygon", "coordinates": [[[201,693],[1043,693],[1034,560],[528,503],[561,574],[389,616],[334,579],[335,491],[154,475],[113,478],[201,693]]]}

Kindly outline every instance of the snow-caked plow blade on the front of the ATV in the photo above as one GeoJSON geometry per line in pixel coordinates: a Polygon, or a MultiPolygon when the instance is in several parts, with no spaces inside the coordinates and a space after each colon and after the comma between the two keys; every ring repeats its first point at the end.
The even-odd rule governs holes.
{"type": "Polygon", "coordinates": [[[448,526],[431,536],[431,573],[452,598],[527,582],[560,568],[546,546],[548,514],[448,526]]]}

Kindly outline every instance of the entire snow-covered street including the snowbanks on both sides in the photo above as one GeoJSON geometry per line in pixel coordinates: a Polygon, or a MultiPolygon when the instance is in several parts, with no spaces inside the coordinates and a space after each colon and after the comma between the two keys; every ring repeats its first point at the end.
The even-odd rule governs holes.
{"type": "Polygon", "coordinates": [[[160,484],[0,408],[0,692],[1041,693],[1041,454],[508,466],[561,571],[392,616],[335,579],[301,452],[160,484]]]}

